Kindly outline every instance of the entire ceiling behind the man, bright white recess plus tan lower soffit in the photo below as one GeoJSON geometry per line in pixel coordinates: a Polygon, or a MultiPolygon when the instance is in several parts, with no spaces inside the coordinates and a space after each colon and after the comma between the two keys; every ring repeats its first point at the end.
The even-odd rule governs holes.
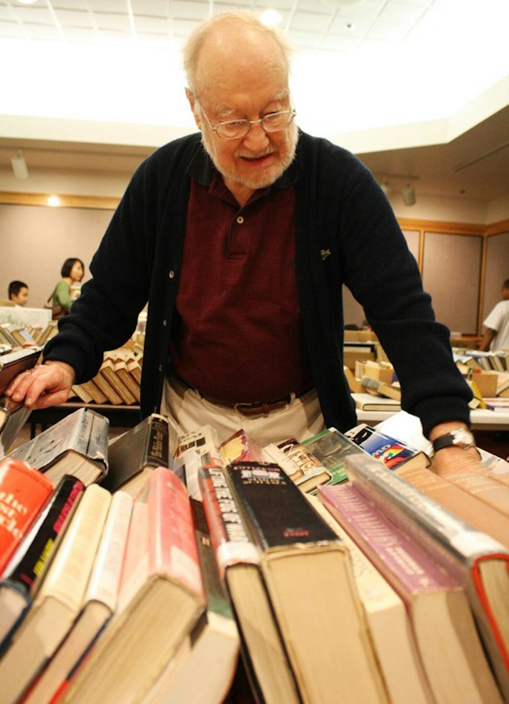
{"type": "Polygon", "coordinates": [[[281,13],[304,130],[418,191],[509,194],[509,0],[0,0],[0,169],[127,173],[191,132],[179,49],[233,6],[281,13]]]}

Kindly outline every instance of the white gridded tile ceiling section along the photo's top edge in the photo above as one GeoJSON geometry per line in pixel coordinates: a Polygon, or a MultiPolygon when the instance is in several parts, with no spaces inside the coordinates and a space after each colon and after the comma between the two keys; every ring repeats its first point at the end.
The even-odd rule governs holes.
{"type": "MultiPolygon", "coordinates": [[[[465,0],[468,1],[468,0],[465,0]]],[[[179,41],[200,20],[232,6],[282,15],[281,26],[297,46],[349,51],[404,39],[434,0],[37,0],[0,1],[0,37],[64,42],[179,41]]]]}

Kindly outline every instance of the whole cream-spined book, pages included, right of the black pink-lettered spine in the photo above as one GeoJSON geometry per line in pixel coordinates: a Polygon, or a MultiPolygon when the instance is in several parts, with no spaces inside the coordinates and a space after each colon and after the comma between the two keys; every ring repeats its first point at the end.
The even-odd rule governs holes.
{"type": "Polygon", "coordinates": [[[49,662],[77,617],[105,522],[110,494],[84,492],[48,574],[0,660],[2,704],[15,704],[49,662]]]}

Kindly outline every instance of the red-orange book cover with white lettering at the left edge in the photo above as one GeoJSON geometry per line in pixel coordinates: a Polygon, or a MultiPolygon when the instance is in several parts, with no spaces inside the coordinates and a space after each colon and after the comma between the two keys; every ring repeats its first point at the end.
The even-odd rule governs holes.
{"type": "Polygon", "coordinates": [[[20,460],[0,460],[0,575],[53,494],[53,484],[20,460]]]}

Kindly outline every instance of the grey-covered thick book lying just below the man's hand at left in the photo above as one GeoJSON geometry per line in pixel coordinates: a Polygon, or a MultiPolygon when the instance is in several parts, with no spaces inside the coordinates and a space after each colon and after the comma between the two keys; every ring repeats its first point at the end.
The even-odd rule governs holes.
{"type": "Polygon", "coordinates": [[[54,483],[72,474],[88,486],[108,471],[108,429],[108,418],[79,408],[8,456],[37,467],[54,483]]]}

